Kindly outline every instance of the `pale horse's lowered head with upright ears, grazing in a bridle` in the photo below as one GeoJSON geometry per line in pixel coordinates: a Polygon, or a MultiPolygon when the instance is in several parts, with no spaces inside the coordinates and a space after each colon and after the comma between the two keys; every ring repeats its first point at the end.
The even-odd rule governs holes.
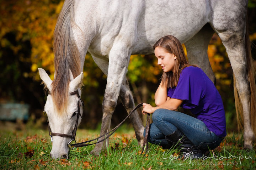
{"type": "Polygon", "coordinates": [[[49,135],[52,139],[52,151],[50,157],[52,158],[68,158],[69,147],[68,144],[75,140],[76,128],[81,122],[82,118],[82,101],[80,98],[83,73],[81,72],[76,78],[70,74],[69,82],[69,96],[67,106],[65,106],[64,113],[58,113],[58,109],[54,104],[52,97],[52,80],[42,68],[38,68],[39,75],[43,80],[45,87],[49,90],[46,104],[44,105],[44,112],[48,117],[49,135]],[[77,91],[77,92],[76,92],[77,91]]]}

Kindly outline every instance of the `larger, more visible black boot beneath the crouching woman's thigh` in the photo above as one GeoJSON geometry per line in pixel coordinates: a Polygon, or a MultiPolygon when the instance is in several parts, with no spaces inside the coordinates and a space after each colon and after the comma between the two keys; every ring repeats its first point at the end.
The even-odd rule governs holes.
{"type": "Polygon", "coordinates": [[[170,135],[165,136],[165,139],[175,146],[176,149],[181,149],[185,159],[187,158],[202,158],[203,154],[180,130],[176,130],[170,135]]]}

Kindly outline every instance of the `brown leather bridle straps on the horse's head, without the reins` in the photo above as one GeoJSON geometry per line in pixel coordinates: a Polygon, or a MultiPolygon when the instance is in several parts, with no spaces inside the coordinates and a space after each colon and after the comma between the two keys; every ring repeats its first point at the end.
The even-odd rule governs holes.
{"type": "MultiPolygon", "coordinates": [[[[49,95],[51,95],[50,91],[49,91],[49,95]]],[[[80,95],[79,95],[79,93],[78,93],[78,90],[76,90],[76,91],[70,93],[70,96],[73,96],[73,95],[77,95],[79,101],[78,101],[78,113],[77,113],[77,117],[76,117],[75,128],[74,128],[74,130],[72,131],[72,135],[59,134],[59,133],[54,133],[54,132],[52,132],[52,130],[50,129],[49,121],[47,120],[47,123],[48,123],[48,131],[49,131],[49,136],[50,136],[50,138],[51,138],[51,141],[53,142],[52,136],[60,136],[60,137],[71,138],[71,140],[68,142],[68,146],[69,146],[70,149],[73,149],[73,148],[74,148],[74,147],[72,147],[72,146],[70,145],[70,143],[71,143],[72,141],[75,141],[75,143],[76,143],[75,136],[76,136],[76,130],[77,130],[77,128],[78,128],[78,120],[79,120],[79,117],[82,118],[82,115],[81,115],[81,113],[80,113],[80,106],[81,106],[80,101],[82,102],[82,107],[83,107],[83,109],[84,109],[84,101],[81,100],[81,97],[80,97],[80,95]]]]}

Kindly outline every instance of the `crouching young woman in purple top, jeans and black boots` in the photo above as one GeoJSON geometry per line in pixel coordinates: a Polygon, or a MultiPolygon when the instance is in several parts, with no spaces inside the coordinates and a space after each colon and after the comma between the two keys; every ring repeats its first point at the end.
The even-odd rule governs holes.
{"type": "Polygon", "coordinates": [[[164,72],[155,93],[156,107],[143,103],[143,114],[153,113],[148,141],[164,149],[176,146],[186,157],[200,158],[226,136],[219,92],[201,68],[188,63],[174,36],[160,38],[154,52],[164,72]],[[177,112],[180,106],[195,117],[177,112]]]}

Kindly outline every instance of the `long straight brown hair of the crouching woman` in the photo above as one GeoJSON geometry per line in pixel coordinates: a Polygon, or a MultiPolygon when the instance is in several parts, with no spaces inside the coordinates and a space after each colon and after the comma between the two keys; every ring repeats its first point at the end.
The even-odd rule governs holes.
{"type": "Polygon", "coordinates": [[[196,65],[191,65],[190,63],[188,63],[180,41],[172,35],[166,35],[160,38],[153,46],[154,49],[156,47],[162,47],[165,49],[166,52],[172,53],[177,57],[177,59],[175,60],[173,72],[164,72],[162,74],[162,86],[164,84],[166,84],[167,88],[177,86],[182,69],[188,66],[198,67],[196,65]]]}

